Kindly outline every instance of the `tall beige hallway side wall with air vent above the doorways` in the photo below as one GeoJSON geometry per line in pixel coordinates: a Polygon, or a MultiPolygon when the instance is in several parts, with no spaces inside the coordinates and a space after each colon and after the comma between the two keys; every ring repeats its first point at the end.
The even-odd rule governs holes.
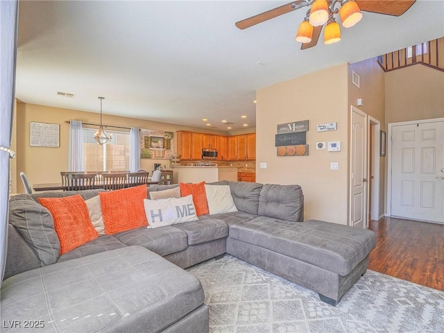
{"type": "MultiPolygon", "coordinates": [[[[348,99],[349,104],[381,122],[381,129],[386,129],[385,123],[385,79],[384,71],[377,63],[377,58],[370,58],[349,65],[348,99]],[[359,75],[359,87],[352,83],[352,73],[359,75]],[[364,99],[364,105],[358,106],[357,99],[364,99]]],[[[384,214],[385,207],[385,164],[387,157],[374,156],[379,160],[379,212],[384,214]]],[[[369,177],[370,178],[370,177],[369,177]]],[[[370,210],[370,207],[369,207],[370,210]]]]}

